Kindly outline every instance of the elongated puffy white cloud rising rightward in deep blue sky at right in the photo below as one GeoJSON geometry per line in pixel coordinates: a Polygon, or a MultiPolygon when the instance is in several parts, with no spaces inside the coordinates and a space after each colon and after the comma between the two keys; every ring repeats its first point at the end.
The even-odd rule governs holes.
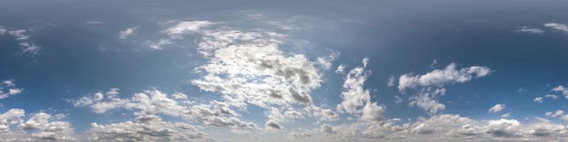
{"type": "Polygon", "coordinates": [[[398,79],[398,89],[401,91],[408,88],[438,86],[446,84],[464,83],[473,78],[485,77],[493,70],[488,67],[471,66],[456,70],[456,64],[449,64],[444,70],[433,70],[424,75],[405,74],[398,79]]]}

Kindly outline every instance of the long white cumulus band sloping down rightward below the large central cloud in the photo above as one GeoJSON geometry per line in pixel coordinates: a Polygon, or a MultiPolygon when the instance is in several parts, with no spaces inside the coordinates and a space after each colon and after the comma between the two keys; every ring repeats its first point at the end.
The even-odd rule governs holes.
{"type": "Polygon", "coordinates": [[[168,95],[158,89],[146,90],[136,93],[129,99],[118,97],[119,89],[110,89],[102,94],[72,99],[76,107],[90,107],[95,113],[103,114],[113,109],[133,110],[136,116],[165,114],[168,116],[186,119],[188,121],[202,121],[204,125],[215,127],[229,127],[236,130],[251,131],[256,129],[256,124],[241,121],[236,116],[240,114],[232,110],[226,102],[212,101],[209,104],[184,104],[185,99],[175,99],[179,93],[168,95]]]}

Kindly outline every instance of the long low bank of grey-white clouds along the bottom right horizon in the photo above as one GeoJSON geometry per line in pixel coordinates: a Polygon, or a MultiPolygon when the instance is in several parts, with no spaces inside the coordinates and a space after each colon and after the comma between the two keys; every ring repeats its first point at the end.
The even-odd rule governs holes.
{"type": "Polygon", "coordinates": [[[393,125],[393,121],[398,120],[369,127],[323,124],[320,131],[339,138],[336,141],[559,141],[568,134],[566,126],[541,118],[522,124],[514,119],[480,121],[437,114],[400,125],[393,125]]]}

